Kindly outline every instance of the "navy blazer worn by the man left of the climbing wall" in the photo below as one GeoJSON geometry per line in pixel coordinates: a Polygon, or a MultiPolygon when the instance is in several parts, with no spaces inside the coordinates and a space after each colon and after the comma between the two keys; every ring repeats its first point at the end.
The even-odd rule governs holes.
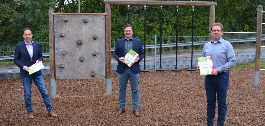
{"type": "Polygon", "coordinates": [[[33,77],[40,76],[41,70],[29,75],[29,72],[23,70],[23,66],[31,66],[36,63],[36,61],[42,61],[43,56],[41,52],[41,44],[33,41],[33,56],[32,59],[29,56],[29,52],[26,48],[25,41],[16,44],[15,55],[14,55],[14,63],[20,68],[20,76],[21,77],[33,77]]]}

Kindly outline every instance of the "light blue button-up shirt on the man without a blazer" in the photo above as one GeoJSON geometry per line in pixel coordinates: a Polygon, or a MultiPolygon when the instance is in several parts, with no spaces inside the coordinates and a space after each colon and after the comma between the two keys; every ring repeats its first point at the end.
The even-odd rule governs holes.
{"type": "Polygon", "coordinates": [[[212,56],[213,68],[219,73],[226,72],[236,65],[234,49],[228,41],[222,37],[217,43],[209,41],[203,47],[202,57],[212,56]]]}

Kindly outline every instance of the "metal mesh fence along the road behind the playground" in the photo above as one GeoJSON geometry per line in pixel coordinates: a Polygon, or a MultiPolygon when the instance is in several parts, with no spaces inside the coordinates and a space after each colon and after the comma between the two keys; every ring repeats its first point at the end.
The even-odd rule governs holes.
{"type": "MultiPolygon", "coordinates": [[[[265,31],[263,31],[263,34],[265,31]]],[[[255,55],[256,33],[232,33],[224,32],[223,39],[229,41],[234,48],[236,55],[255,55]]],[[[178,46],[176,47],[175,36],[162,36],[162,60],[175,60],[177,49],[177,60],[190,60],[192,49],[191,36],[179,36],[178,46]]],[[[193,37],[193,59],[201,56],[202,49],[209,41],[209,37],[194,36],[193,37]]],[[[113,51],[116,46],[116,39],[111,40],[111,64],[116,64],[113,58],[113,51]]],[[[144,40],[141,40],[144,47],[144,40]]],[[[155,60],[160,60],[160,36],[155,36],[154,40],[146,40],[146,63],[154,64],[155,60]]],[[[262,38],[261,46],[265,46],[265,37],[262,38]]],[[[49,43],[41,43],[43,52],[43,62],[49,64],[49,43]]],[[[261,50],[265,51],[265,50],[261,50]]],[[[0,46],[0,73],[5,71],[4,66],[14,65],[15,46],[0,46]]],[[[141,62],[142,63],[142,62],[141,62]]]]}

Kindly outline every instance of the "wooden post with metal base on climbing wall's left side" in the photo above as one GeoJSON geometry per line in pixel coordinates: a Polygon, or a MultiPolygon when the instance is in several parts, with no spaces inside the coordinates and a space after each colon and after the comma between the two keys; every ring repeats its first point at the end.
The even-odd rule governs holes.
{"type": "Polygon", "coordinates": [[[55,98],[56,94],[56,72],[55,72],[55,41],[54,41],[54,13],[53,8],[49,8],[49,40],[50,40],[50,88],[51,98],[55,98]]]}

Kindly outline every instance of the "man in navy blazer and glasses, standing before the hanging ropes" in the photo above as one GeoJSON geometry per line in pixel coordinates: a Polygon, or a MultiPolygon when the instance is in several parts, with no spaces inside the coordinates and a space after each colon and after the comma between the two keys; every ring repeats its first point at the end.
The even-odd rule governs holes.
{"type": "Polygon", "coordinates": [[[139,113],[139,73],[141,72],[140,64],[144,58],[143,46],[140,39],[133,38],[133,26],[127,24],[123,31],[125,38],[118,39],[113,57],[118,61],[117,72],[119,79],[119,104],[120,109],[116,115],[124,113],[126,103],[126,87],[128,79],[131,83],[132,99],[133,99],[133,114],[137,117],[139,113]],[[133,49],[139,57],[134,60],[133,66],[127,66],[124,56],[130,49],[133,49]]]}

